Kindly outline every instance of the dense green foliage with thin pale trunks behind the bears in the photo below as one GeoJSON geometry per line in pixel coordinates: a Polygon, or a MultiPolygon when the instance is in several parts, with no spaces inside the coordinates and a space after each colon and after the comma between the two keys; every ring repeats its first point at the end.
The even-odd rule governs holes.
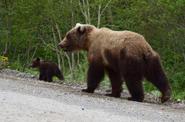
{"type": "Polygon", "coordinates": [[[1,0],[0,55],[22,71],[34,57],[52,60],[67,79],[84,81],[86,54],[57,48],[77,22],[143,34],[161,55],[174,98],[185,99],[185,0],[1,0]]]}

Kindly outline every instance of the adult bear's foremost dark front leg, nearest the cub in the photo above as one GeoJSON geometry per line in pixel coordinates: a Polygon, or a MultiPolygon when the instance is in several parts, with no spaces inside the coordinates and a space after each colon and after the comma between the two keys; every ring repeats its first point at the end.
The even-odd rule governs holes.
{"type": "Polygon", "coordinates": [[[87,89],[82,89],[82,92],[93,93],[104,77],[103,65],[91,63],[87,75],[87,89]]]}

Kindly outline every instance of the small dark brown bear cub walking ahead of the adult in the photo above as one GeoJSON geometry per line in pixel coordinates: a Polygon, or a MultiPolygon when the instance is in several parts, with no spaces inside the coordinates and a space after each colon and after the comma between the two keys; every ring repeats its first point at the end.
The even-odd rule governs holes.
{"type": "Polygon", "coordinates": [[[58,77],[60,80],[64,80],[64,76],[61,70],[55,63],[49,61],[41,61],[40,58],[36,58],[32,61],[31,67],[39,69],[39,80],[52,82],[53,76],[58,77]]]}

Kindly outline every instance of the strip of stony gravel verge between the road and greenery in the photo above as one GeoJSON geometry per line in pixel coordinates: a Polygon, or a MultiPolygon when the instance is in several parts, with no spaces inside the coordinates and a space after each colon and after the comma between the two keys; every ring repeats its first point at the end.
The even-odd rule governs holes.
{"type": "MultiPolygon", "coordinates": [[[[78,83],[74,83],[74,82],[60,82],[60,81],[55,81],[54,83],[48,83],[48,82],[44,82],[44,81],[39,81],[37,80],[38,78],[32,74],[29,73],[24,73],[24,72],[19,72],[16,70],[10,70],[10,69],[3,69],[0,70],[0,77],[6,79],[6,78],[10,78],[10,79],[16,79],[16,80],[20,80],[22,82],[29,81],[30,83],[33,83],[35,85],[39,84],[39,83],[45,83],[48,84],[50,87],[50,84],[52,84],[52,86],[62,86],[62,89],[65,89],[66,91],[72,92],[74,94],[81,94],[81,89],[86,87],[86,84],[78,84],[78,83]],[[62,85],[61,85],[62,84],[62,85]]],[[[60,88],[58,88],[60,89],[60,88]]],[[[112,99],[109,97],[104,96],[104,94],[106,93],[105,89],[101,89],[99,88],[98,90],[96,90],[95,94],[91,94],[91,96],[95,96],[95,97],[105,97],[108,99],[112,99]]],[[[66,93],[67,94],[67,93],[66,93]]],[[[124,90],[122,92],[122,97],[120,98],[120,100],[122,99],[127,99],[127,97],[129,97],[129,93],[127,90],[124,90]]],[[[161,105],[159,98],[145,93],[145,103],[152,103],[152,104],[159,104],[161,105]]],[[[164,106],[169,106],[171,108],[174,109],[184,109],[185,110],[185,101],[181,101],[181,102],[177,102],[177,101],[169,101],[166,102],[165,104],[162,104],[164,106]]]]}

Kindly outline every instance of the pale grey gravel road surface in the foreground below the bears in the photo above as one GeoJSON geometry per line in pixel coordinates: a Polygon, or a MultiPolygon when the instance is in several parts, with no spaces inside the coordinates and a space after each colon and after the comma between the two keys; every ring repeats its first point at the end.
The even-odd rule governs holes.
{"type": "Polygon", "coordinates": [[[185,122],[185,109],[0,74],[1,122],[185,122]]]}

